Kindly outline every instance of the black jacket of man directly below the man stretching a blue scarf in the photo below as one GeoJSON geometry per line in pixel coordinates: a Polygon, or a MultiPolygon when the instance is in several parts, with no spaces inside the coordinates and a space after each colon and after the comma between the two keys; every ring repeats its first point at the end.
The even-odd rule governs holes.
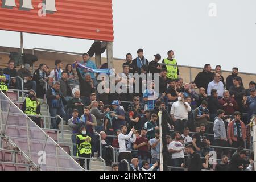
{"type": "Polygon", "coordinates": [[[78,68],[76,68],[77,76],[79,77],[79,89],[81,96],[90,97],[90,94],[95,92],[95,88],[92,88],[90,82],[86,82],[82,79],[81,73],[78,68]]]}

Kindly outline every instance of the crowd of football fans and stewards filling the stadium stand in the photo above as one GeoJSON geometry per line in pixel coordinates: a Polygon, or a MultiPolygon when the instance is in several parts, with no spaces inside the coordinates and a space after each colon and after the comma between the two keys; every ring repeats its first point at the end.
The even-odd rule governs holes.
{"type": "MultiPolygon", "coordinates": [[[[97,69],[88,53],[82,55],[80,64],[97,69]]],[[[65,65],[63,70],[63,62],[56,60],[52,71],[46,64],[40,64],[32,74],[29,64],[16,71],[14,61],[10,60],[7,68],[0,69],[0,88],[5,94],[9,88],[21,89],[22,82],[17,76],[22,77],[24,88],[32,89],[22,111],[40,114],[38,98],[45,95],[51,116],[60,115],[72,130],[73,155],[90,158],[102,148],[103,158],[111,165],[111,145],[118,150],[119,166],[112,164],[114,170],[127,169],[123,159],[130,162],[132,171],[159,170],[159,121],[165,170],[168,166],[171,170],[251,170],[253,154],[244,149],[252,149],[255,82],[251,81],[245,89],[238,68],[233,68],[232,75],[225,80],[221,65],[216,65],[212,72],[211,65],[205,64],[195,81],[184,83],[177,65],[174,51],[168,51],[163,60],[156,54],[150,62],[143,49],[138,49],[135,59],[127,53],[123,72],[117,73],[110,84],[122,83],[126,91],[134,89],[133,73],[157,74],[159,81],[140,80],[140,88],[146,85],[147,89],[139,93],[112,93],[104,85],[105,92],[100,93],[97,73],[79,67],[76,62],[65,65]],[[46,92],[43,80],[49,85],[46,92]],[[101,135],[101,147],[96,132],[101,135]]],[[[31,119],[42,127],[40,118],[31,119]]],[[[59,118],[51,119],[53,129],[59,130],[59,124],[59,118]]],[[[80,160],[81,166],[84,163],[80,160]]]]}

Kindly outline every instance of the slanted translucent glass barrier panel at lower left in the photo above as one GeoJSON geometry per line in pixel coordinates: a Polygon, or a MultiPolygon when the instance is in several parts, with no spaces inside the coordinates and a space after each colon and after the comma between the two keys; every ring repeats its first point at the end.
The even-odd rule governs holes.
{"type": "Polygon", "coordinates": [[[0,126],[5,135],[42,170],[80,171],[79,164],[67,155],[42,129],[0,92],[0,126]],[[11,105],[10,105],[11,103],[11,105]]]}

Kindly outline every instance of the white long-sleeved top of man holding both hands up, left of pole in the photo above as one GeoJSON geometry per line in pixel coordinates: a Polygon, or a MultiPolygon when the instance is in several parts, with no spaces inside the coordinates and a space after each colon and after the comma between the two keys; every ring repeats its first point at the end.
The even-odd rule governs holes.
{"type": "MultiPolygon", "coordinates": [[[[133,138],[131,138],[131,135],[133,135],[133,131],[130,131],[130,133],[128,135],[125,134],[119,134],[118,135],[118,143],[119,143],[119,153],[121,152],[129,152],[131,153],[130,150],[127,150],[127,142],[134,143],[136,141],[136,135],[133,135],[133,138]]],[[[131,147],[131,146],[130,146],[131,147]]]]}

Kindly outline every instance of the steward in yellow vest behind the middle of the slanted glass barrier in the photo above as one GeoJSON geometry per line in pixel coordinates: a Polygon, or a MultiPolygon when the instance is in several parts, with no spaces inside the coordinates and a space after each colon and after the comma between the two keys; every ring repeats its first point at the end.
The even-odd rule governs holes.
{"type": "MultiPolygon", "coordinates": [[[[41,106],[40,101],[36,98],[36,93],[34,91],[30,91],[28,97],[23,102],[22,111],[27,115],[40,115],[41,106]]],[[[39,127],[41,126],[41,118],[40,117],[32,117],[30,116],[32,121],[36,123],[39,127]]]]}

